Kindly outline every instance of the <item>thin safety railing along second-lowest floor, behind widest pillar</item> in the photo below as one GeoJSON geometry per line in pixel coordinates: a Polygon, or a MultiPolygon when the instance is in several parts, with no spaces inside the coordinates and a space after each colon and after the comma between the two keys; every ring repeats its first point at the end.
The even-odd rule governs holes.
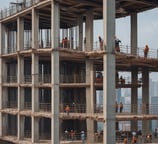
{"type": "MultiPolygon", "coordinates": [[[[103,113],[102,104],[94,104],[94,112],[91,113],[103,113]]],[[[158,115],[158,105],[153,104],[117,104],[113,106],[116,109],[116,114],[133,115],[133,114],[147,114],[147,115],[158,115]]],[[[85,104],[60,104],[60,112],[65,113],[89,113],[86,110],[85,104]],[[66,108],[68,106],[68,109],[66,108]]]]}

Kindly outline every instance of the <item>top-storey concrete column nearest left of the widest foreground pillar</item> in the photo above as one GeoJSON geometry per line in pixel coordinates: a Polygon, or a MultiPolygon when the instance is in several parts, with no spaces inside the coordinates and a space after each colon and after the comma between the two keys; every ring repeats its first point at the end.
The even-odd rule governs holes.
{"type": "Polygon", "coordinates": [[[86,35],[85,51],[91,51],[93,50],[93,11],[92,10],[88,10],[86,13],[85,35],[86,35]]]}

